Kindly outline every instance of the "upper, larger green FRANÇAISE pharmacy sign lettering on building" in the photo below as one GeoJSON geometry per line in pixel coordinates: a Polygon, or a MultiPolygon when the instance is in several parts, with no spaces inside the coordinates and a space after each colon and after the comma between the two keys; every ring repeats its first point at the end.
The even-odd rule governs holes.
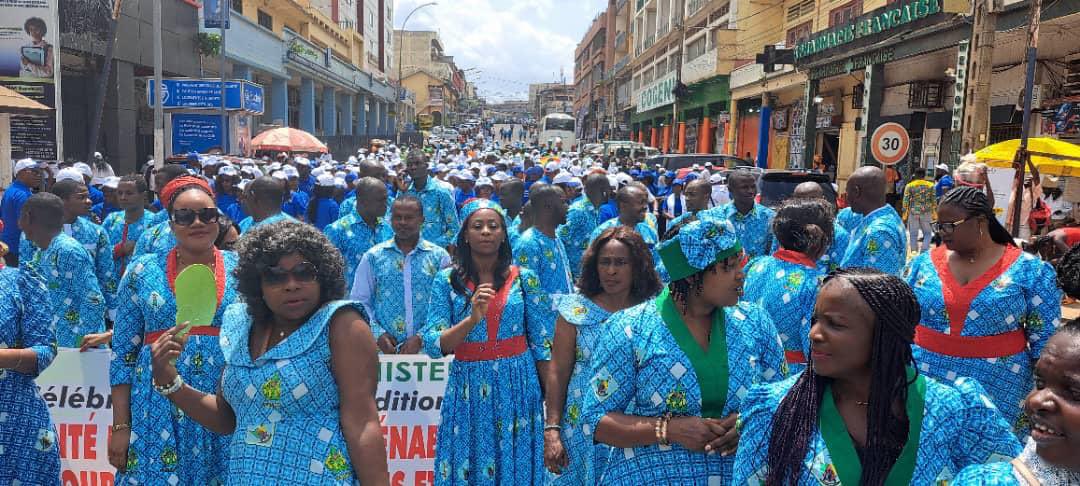
{"type": "Polygon", "coordinates": [[[819,32],[798,43],[795,46],[795,60],[939,14],[942,12],[942,1],[908,0],[861,15],[852,22],[819,32]]]}

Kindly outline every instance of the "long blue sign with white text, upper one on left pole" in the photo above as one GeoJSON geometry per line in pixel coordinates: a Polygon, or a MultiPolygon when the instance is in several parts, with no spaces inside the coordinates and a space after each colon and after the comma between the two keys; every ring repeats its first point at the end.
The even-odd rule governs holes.
{"type": "MultiPolygon", "coordinates": [[[[219,109],[221,107],[221,81],[216,79],[163,79],[162,108],[219,109]]],[[[153,107],[153,80],[147,80],[146,103],[153,107]]],[[[225,109],[261,113],[264,110],[262,86],[244,80],[225,82],[225,109]]]]}

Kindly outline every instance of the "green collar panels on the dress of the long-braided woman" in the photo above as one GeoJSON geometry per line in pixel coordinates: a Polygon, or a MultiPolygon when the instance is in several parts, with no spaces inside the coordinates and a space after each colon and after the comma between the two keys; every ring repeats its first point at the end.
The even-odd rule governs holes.
{"type": "MultiPolygon", "coordinates": [[[[915,370],[907,368],[907,379],[915,376],[915,370]]],[[[858,486],[863,477],[863,465],[859,461],[854,443],[848,434],[848,427],[840,417],[840,411],[836,408],[833,400],[833,389],[825,386],[825,396],[821,404],[821,413],[818,416],[818,427],[821,429],[821,437],[828,448],[828,456],[836,467],[836,474],[840,478],[840,484],[845,486],[858,486]]],[[[886,477],[887,486],[902,486],[910,484],[915,474],[915,459],[919,453],[919,433],[922,430],[922,414],[926,405],[927,380],[920,375],[915,382],[907,386],[907,442],[901,450],[896,463],[889,470],[886,477]]]]}

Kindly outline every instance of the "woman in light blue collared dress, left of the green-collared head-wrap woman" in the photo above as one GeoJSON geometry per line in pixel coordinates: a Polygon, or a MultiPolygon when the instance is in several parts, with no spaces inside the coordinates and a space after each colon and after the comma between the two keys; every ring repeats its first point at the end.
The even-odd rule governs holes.
{"type": "MultiPolygon", "coordinates": [[[[606,183],[605,183],[606,184],[606,183]]],[[[660,291],[649,247],[630,227],[608,228],[585,249],[578,293],[555,296],[558,319],[545,395],[544,465],[554,484],[595,484],[610,449],[594,444],[581,421],[589,391],[590,360],[604,335],[604,321],[660,291]],[[594,450],[595,448],[595,450],[594,450]]]]}

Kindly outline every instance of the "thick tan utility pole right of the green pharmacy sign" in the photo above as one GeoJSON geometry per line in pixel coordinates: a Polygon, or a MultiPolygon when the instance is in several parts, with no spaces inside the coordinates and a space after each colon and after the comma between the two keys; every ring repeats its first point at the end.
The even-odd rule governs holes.
{"type": "MultiPolygon", "coordinates": [[[[998,27],[996,0],[974,3],[971,49],[968,55],[966,117],[961,130],[960,153],[986,146],[990,126],[990,77],[994,76],[994,38],[998,27]]],[[[954,146],[955,147],[955,146],[954,146]]]]}

